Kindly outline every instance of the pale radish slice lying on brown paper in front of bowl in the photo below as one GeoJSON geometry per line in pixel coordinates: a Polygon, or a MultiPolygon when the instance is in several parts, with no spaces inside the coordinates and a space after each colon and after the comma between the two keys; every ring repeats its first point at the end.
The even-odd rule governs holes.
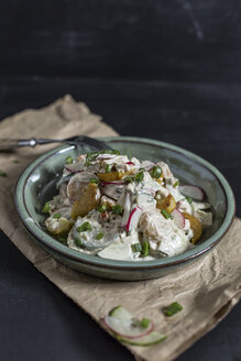
{"type": "Polygon", "coordinates": [[[116,335],[128,338],[138,339],[152,332],[154,324],[150,322],[149,327],[141,326],[141,321],[134,318],[120,319],[112,316],[103,318],[105,325],[116,335]]]}

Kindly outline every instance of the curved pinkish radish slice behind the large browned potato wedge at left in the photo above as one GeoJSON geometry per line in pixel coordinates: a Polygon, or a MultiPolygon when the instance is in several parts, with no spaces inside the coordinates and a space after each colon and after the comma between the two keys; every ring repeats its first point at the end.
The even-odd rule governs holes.
{"type": "Polygon", "coordinates": [[[67,185],[67,196],[70,201],[79,198],[90,178],[98,179],[98,177],[90,172],[76,173],[67,185]]]}

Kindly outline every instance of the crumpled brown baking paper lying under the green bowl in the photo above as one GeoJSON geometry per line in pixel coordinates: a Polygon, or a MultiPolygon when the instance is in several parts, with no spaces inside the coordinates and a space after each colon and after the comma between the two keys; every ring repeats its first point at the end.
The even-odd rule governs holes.
{"type": "MultiPolygon", "coordinates": [[[[99,116],[70,96],[40,110],[24,110],[0,123],[0,138],[76,134],[117,135],[99,116]]],[[[0,177],[0,228],[37,270],[100,325],[100,318],[119,304],[136,317],[155,320],[155,329],[167,335],[167,339],[146,348],[124,344],[136,359],[175,359],[213,328],[240,299],[241,220],[234,220],[221,242],[208,254],[172,275],[151,281],[114,282],[77,273],[56,262],[31,239],[13,203],[14,185],[23,168],[53,146],[0,153],[0,168],[8,174],[6,178],[0,177]],[[174,300],[183,305],[183,310],[167,318],[163,308],[174,300]]]]}

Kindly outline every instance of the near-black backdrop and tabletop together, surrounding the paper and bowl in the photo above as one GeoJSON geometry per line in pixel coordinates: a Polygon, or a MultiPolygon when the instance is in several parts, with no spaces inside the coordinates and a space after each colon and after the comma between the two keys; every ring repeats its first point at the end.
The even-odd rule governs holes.
{"type": "MultiPolygon", "coordinates": [[[[66,92],[218,166],[241,216],[239,0],[0,1],[0,119],[66,92]]],[[[0,241],[1,360],[133,360],[0,241]]],[[[178,360],[241,360],[240,324],[238,305],[178,360]]]]}

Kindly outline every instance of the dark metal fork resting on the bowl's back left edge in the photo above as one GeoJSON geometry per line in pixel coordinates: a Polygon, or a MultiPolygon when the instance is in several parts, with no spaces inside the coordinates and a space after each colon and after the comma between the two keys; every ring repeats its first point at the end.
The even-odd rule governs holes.
{"type": "Polygon", "coordinates": [[[19,146],[32,146],[51,144],[51,143],[65,143],[69,145],[90,145],[96,150],[111,149],[107,143],[99,141],[95,138],[78,135],[66,139],[44,139],[44,138],[30,138],[30,139],[0,139],[0,151],[7,151],[19,146]]]}

